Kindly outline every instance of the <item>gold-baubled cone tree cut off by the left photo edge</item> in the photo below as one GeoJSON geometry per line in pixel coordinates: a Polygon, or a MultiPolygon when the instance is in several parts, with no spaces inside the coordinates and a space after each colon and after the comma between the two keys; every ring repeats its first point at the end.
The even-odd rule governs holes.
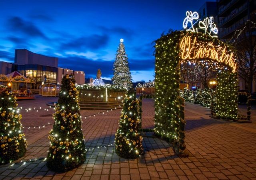
{"type": "Polygon", "coordinates": [[[22,133],[18,104],[12,92],[0,93],[0,164],[7,164],[26,153],[28,142],[22,133]]]}

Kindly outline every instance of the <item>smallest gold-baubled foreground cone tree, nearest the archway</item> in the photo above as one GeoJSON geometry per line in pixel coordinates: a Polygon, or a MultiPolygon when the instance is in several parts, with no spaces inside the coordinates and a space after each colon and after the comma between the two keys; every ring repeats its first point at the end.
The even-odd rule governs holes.
{"type": "Polygon", "coordinates": [[[141,119],[138,117],[138,100],[132,90],[123,100],[119,129],[116,132],[116,154],[123,158],[137,158],[143,154],[141,119]]]}

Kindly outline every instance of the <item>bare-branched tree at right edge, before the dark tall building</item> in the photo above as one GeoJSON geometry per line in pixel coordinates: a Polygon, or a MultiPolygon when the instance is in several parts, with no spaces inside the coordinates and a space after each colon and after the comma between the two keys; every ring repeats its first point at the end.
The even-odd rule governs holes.
{"type": "Polygon", "coordinates": [[[256,23],[248,20],[235,32],[231,42],[238,57],[238,76],[248,84],[248,90],[252,92],[252,82],[256,79],[256,23]]]}

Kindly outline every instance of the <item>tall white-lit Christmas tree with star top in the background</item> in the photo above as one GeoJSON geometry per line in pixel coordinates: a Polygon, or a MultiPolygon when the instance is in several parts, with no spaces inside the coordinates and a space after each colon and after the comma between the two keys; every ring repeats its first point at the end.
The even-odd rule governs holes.
{"type": "Polygon", "coordinates": [[[120,39],[118,49],[116,51],[116,58],[114,62],[114,76],[112,81],[116,86],[124,86],[132,89],[132,76],[128,63],[128,55],[126,54],[123,39],[120,39]]]}

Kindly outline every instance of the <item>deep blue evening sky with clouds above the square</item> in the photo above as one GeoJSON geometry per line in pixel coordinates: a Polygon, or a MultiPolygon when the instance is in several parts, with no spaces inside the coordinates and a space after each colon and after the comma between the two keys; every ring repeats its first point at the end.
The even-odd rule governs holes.
{"type": "MultiPolygon", "coordinates": [[[[216,1],[216,0],[208,0],[216,1]]],[[[134,82],[154,79],[152,42],[180,30],[186,11],[205,0],[0,0],[0,61],[14,62],[15,49],[58,57],[58,67],[86,78],[113,76],[120,39],[134,82]]]]}

